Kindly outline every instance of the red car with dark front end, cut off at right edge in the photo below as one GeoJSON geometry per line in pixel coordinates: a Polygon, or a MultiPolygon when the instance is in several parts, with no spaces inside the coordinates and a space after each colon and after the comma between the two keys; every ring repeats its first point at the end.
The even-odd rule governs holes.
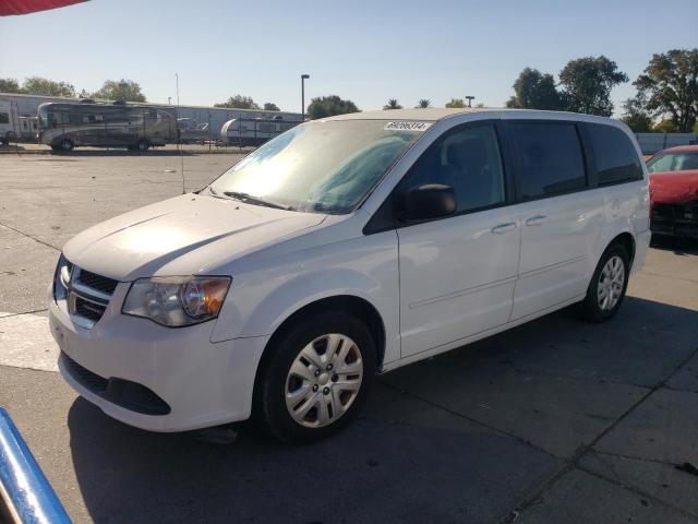
{"type": "Polygon", "coordinates": [[[647,168],[652,233],[698,238],[698,145],[660,151],[647,168]]]}

